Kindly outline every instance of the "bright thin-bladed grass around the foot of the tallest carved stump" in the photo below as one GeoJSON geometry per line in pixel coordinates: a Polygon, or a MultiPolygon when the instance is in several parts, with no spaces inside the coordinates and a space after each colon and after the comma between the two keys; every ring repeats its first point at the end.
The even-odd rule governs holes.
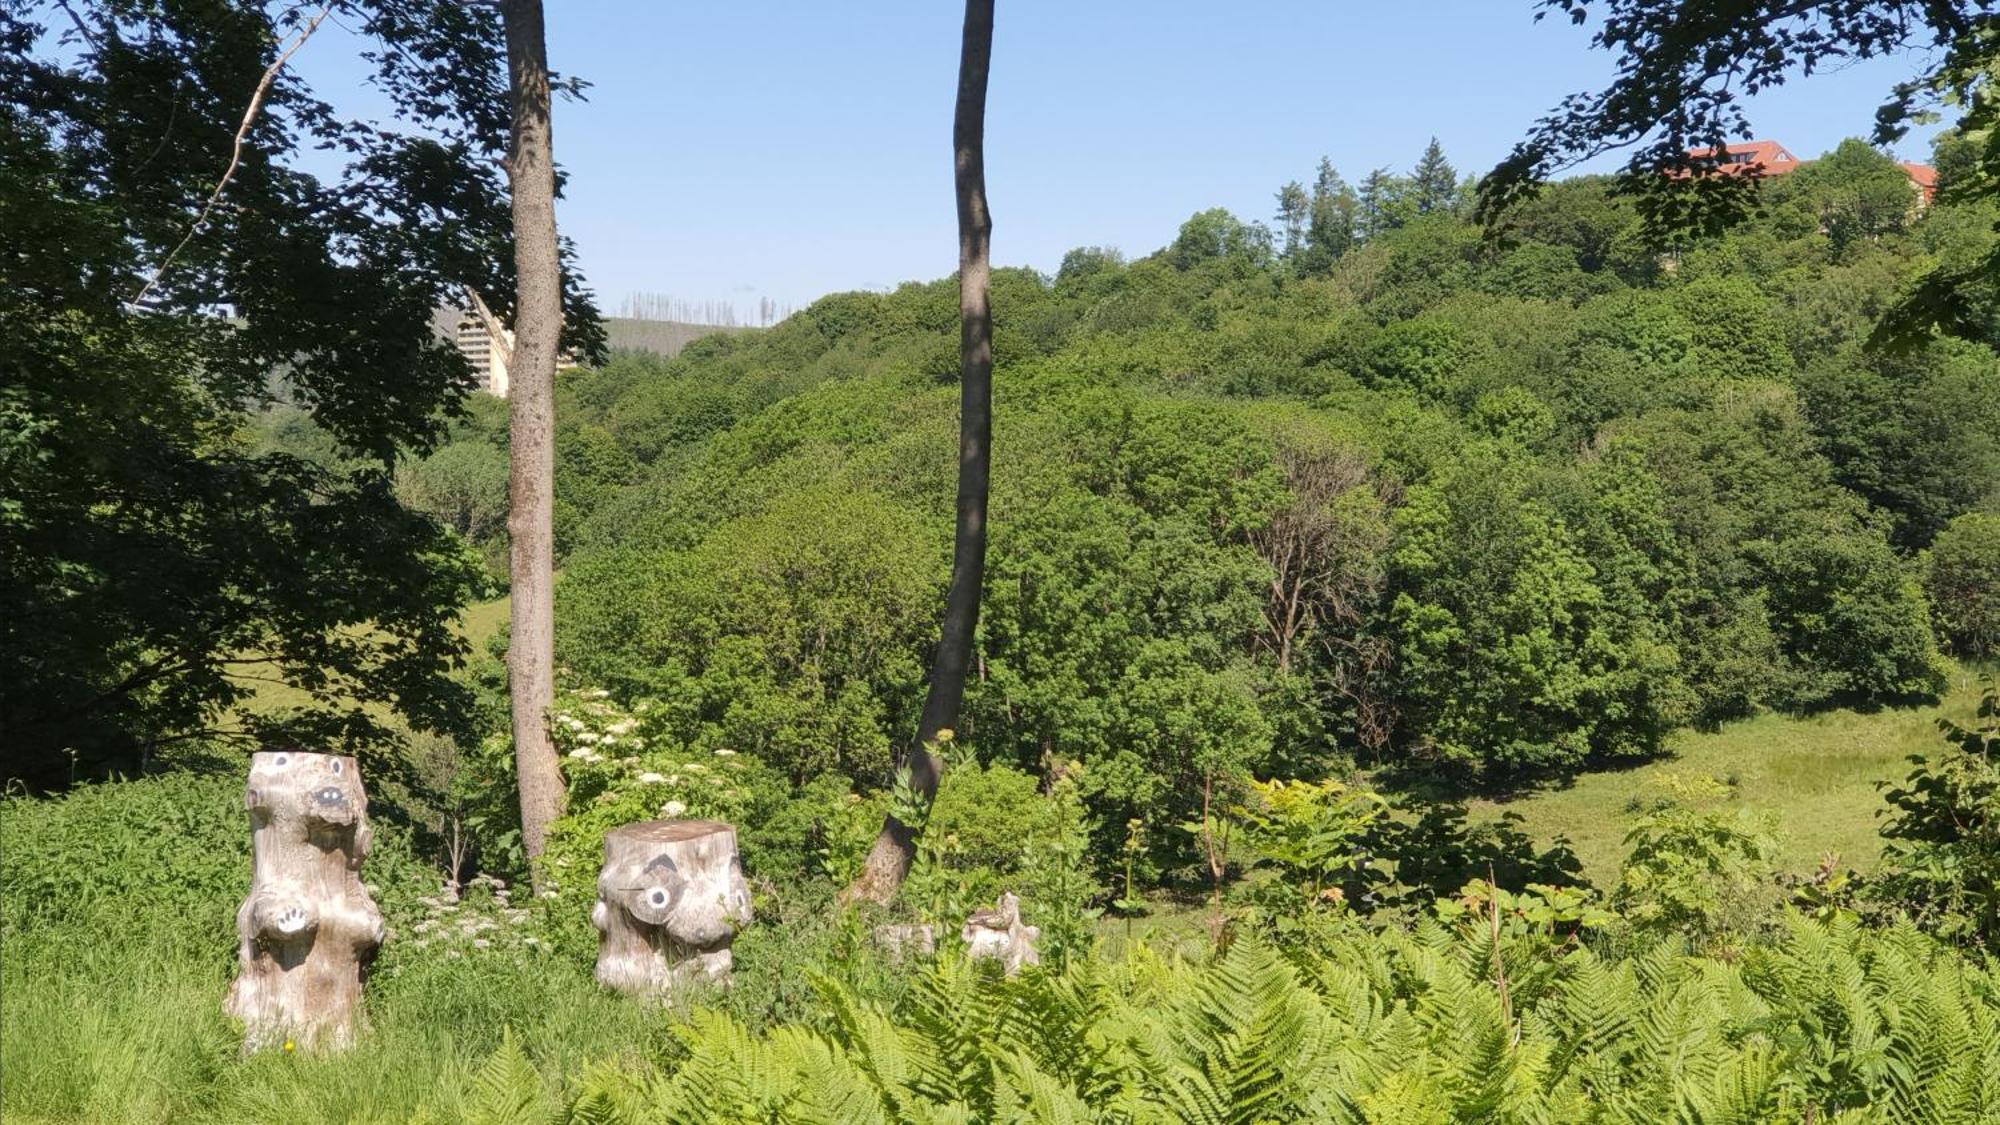
{"type": "MultiPolygon", "coordinates": [[[[224,949],[230,935],[216,935],[224,949]]],[[[16,1121],[456,1119],[506,1029],[560,1093],[560,1075],[658,1057],[670,1013],[536,961],[426,963],[370,985],[370,1031],[336,1057],[240,1057],[222,1015],[232,967],[148,949],[144,931],[12,935],[0,951],[0,1109],[16,1121]]]]}

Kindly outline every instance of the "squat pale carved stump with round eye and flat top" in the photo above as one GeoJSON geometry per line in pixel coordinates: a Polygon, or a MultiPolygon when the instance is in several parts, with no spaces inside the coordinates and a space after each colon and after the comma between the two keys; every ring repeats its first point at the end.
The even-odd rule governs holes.
{"type": "Polygon", "coordinates": [[[736,829],[720,821],[642,821],[604,837],[590,921],[598,983],[664,995],[688,981],[726,981],[730,943],[750,921],[736,829]]]}

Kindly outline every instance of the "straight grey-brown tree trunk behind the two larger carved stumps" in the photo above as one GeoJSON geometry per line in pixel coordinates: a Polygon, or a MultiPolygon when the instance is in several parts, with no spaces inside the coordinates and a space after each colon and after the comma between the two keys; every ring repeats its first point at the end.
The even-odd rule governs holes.
{"type": "Polygon", "coordinates": [[[556,695],[554,506],[556,346],[562,336],[562,260],[556,248],[556,170],[548,128],[548,48],[542,0],[506,0],[506,54],[514,102],[508,182],[514,194],[514,354],[508,364],[508,538],[514,623],[508,695],[520,835],[534,861],[562,813],[562,771],[548,737],[556,695]]]}

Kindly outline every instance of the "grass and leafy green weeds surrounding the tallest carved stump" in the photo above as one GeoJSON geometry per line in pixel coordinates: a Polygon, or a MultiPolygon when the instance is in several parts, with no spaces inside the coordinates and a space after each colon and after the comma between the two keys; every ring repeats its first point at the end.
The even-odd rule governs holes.
{"type": "MultiPolygon", "coordinates": [[[[670,1013],[604,993],[588,959],[518,947],[418,955],[392,933],[354,1051],[242,1057],[222,1013],[250,879],[240,787],[162,777],[0,801],[8,1125],[452,1121],[506,1029],[550,1075],[550,1095],[586,1059],[662,1049],[670,1013]]],[[[384,839],[396,847],[394,833],[384,839]]],[[[410,857],[380,851],[368,875],[390,917],[408,917],[434,885],[410,857]]]]}

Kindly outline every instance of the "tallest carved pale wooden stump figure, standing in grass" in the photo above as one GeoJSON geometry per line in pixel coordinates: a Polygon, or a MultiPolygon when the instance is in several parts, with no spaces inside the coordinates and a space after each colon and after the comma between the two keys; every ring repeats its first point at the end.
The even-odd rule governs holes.
{"type": "Polygon", "coordinates": [[[266,751],[250,759],[250,897],[236,911],[236,981],[224,1011],[244,1051],[342,1049],[360,1023],[362,977],[382,911],[362,887],[368,793],[354,759],[266,751]]]}

